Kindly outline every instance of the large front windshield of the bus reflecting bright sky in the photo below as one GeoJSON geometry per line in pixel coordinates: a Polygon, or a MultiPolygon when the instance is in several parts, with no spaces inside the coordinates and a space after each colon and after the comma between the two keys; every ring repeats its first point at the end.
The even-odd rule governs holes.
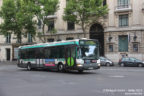
{"type": "Polygon", "coordinates": [[[95,44],[81,44],[80,45],[80,57],[83,59],[98,59],[99,50],[95,44]]]}

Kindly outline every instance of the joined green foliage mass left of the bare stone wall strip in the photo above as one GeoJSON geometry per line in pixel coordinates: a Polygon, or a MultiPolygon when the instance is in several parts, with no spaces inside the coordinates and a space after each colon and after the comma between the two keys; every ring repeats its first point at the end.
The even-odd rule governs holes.
{"type": "Polygon", "coordinates": [[[49,24],[46,17],[56,12],[57,4],[58,0],[3,0],[0,11],[0,17],[3,19],[0,33],[15,34],[20,41],[22,36],[27,37],[28,33],[34,37],[37,22],[33,18],[37,17],[42,21],[42,35],[45,35],[45,26],[49,24]]]}

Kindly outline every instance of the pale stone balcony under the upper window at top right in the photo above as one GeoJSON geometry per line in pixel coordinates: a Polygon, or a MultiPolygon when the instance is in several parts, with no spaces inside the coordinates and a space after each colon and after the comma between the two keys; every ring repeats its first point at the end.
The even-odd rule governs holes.
{"type": "Polygon", "coordinates": [[[116,6],[115,8],[115,12],[119,13],[119,12],[131,12],[132,11],[132,6],[130,4],[126,4],[126,5],[119,5],[116,6]]]}

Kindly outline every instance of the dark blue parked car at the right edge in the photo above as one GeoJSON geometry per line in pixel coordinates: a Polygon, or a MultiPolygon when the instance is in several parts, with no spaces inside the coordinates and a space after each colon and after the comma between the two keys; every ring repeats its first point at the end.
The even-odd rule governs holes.
{"type": "Polygon", "coordinates": [[[133,57],[124,57],[119,60],[120,66],[133,66],[133,67],[143,67],[144,62],[142,60],[133,57]]]}

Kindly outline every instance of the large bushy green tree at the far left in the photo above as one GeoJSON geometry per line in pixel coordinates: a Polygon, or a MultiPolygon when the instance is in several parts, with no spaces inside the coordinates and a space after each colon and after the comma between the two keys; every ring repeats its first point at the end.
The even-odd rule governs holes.
{"type": "Polygon", "coordinates": [[[0,32],[7,36],[15,34],[18,43],[21,43],[22,36],[27,36],[27,33],[35,35],[34,18],[35,6],[32,0],[3,0],[0,11],[0,16],[3,19],[0,25],[0,32]]]}

